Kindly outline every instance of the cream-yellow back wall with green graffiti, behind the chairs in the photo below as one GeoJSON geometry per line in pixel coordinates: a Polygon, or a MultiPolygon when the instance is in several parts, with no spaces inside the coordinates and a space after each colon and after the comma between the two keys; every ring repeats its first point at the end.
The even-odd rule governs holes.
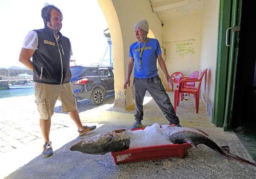
{"type": "Polygon", "coordinates": [[[188,76],[199,70],[201,10],[193,10],[188,16],[172,10],[165,15],[163,47],[169,74],[182,72],[188,76]]]}

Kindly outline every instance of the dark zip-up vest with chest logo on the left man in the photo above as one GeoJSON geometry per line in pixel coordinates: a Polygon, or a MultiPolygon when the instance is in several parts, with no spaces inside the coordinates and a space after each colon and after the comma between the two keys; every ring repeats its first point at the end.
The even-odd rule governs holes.
{"type": "Polygon", "coordinates": [[[38,49],[33,54],[34,81],[47,84],[70,82],[70,42],[60,32],[58,42],[54,33],[45,26],[34,30],[38,35],[38,49]]]}

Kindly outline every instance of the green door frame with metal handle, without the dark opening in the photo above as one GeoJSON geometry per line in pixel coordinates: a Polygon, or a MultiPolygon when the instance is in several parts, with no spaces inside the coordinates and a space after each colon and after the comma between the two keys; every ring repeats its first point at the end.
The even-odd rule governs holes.
{"type": "Polygon", "coordinates": [[[234,102],[236,64],[238,56],[239,33],[242,0],[220,0],[219,5],[219,43],[216,62],[214,107],[212,123],[230,129],[234,102]],[[232,10],[232,14],[230,13],[232,10]],[[230,29],[230,47],[226,46],[226,33],[230,29]]]}

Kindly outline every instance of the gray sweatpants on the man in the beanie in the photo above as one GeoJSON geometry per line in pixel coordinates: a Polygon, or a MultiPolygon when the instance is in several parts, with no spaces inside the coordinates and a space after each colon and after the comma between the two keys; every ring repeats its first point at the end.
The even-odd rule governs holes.
{"type": "Polygon", "coordinates": [[[162,110],[162,113],[167,118],[170,124],[179,123],[179,118],[176,116],[171,100],[167,95],[164,86],[159,76],[151,78],[134,78],[133,81],[134,96],[135,96],[135,120],[143,120],[143,99],[146,90],[153,97],[157,105],[162,110]]]}

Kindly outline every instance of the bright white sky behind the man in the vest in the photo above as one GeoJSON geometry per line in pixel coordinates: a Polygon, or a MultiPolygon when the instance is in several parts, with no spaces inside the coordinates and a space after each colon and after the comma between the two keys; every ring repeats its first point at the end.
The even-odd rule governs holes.
{"type": "Polygon", "coordinates": [[[76,65],[98,63],[108,47],[103,34],[108,25],[97,0],[0,0],[0,67],[25,67],[19,62],[22,42],[29,31],[44,27],[45,3],[62,11],[61,33],[71,41],[71,60],[76,65]]]}

